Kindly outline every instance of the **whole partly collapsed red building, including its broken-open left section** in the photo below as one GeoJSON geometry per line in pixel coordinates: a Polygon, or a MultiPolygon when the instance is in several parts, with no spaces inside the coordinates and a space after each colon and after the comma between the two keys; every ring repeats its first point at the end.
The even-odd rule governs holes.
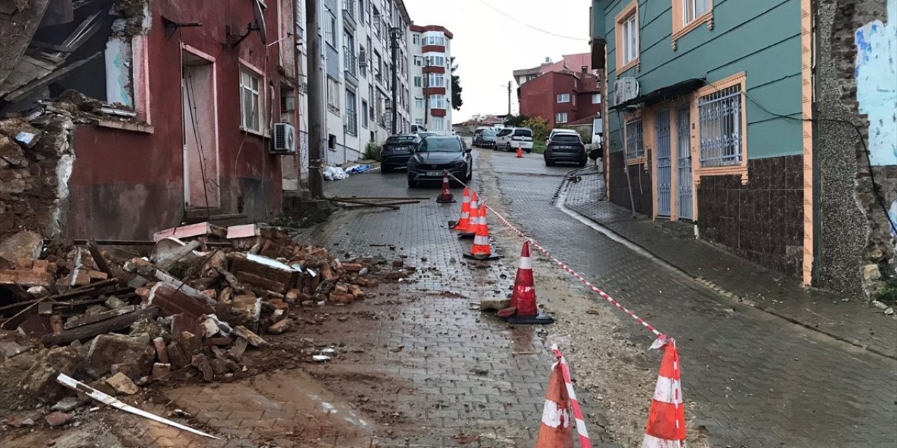
{"type": "Polygon", "coordinates": [[[292,2],[5,2],[0,239],[272,218],[271,130],[298,121],[294,29],[292,2]]]}

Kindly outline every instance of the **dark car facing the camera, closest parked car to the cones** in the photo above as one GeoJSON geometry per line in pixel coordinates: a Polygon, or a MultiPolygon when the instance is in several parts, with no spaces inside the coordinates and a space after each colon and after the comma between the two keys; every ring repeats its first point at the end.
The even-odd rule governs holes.
{"type": "Polygon", "coordinates": [[[414,188],[419,182],[441,181],[446,170],[459,179],[470,180],[474,176],[470,148],[457,135],[425,138],[417,143],[408,160],[408,187],[414,188]]]}

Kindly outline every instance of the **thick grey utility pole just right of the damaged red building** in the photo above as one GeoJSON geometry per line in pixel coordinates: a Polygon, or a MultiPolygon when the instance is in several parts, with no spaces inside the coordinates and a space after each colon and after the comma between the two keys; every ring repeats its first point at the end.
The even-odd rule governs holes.
{"type": "Polygon", "coordinates": [[[309,37],[309,190],[311,197],[324,197],[324,173],[321,151],[324,148],[324,76],[321,63],[323,48],[318,26],[323,23],[318,0],[305,0],[305,29],[309,37]]]}

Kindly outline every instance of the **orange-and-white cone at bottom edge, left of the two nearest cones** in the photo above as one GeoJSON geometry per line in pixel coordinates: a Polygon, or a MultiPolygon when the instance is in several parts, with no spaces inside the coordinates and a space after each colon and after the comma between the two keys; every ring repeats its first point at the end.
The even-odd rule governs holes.
{"type": "Polygon", "coordinates": [[[552,366],[552,376],[548,379],[548,392],[542,408],[542,425],[536,448],[573,448],[573,425],[570,416],[570,394],[563,381],[560,362],[552,366]]]}

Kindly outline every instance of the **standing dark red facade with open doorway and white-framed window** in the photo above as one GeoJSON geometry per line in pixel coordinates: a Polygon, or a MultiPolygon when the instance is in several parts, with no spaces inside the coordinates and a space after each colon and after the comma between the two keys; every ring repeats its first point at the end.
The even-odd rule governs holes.
{"type": "Polygon", "coordinates": [[[269,145],[274,123],[298,123],[282,111],[296,90],[292,4],[259,2],[263,31],[248,30],[259,22],[249,0],[147,2],[143,30],[121,42],[133,69],[106,67],[107,90],[126,79],[135,119],[74,131],[66,237],[143,239],[185,220],[280,211],[269,145]]]}

